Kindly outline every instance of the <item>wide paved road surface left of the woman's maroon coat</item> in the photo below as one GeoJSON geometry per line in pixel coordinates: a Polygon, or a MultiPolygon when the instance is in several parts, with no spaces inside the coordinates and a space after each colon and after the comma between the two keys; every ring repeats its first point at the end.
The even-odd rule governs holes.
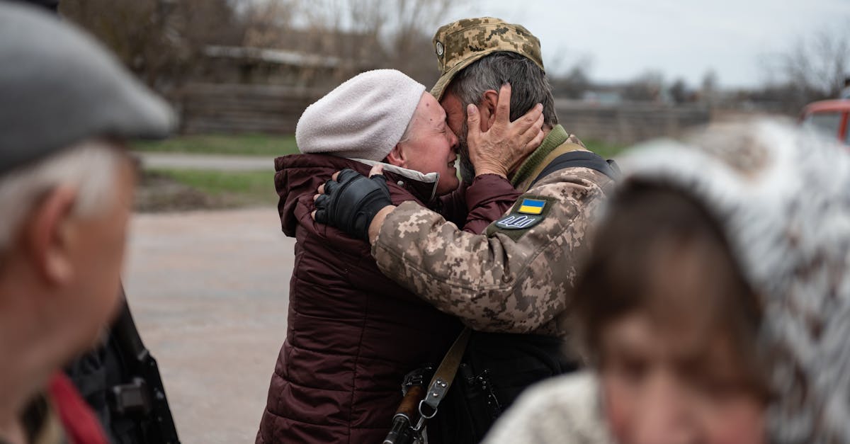
{"type": "Polygon", "coordinates": [[[136,214],[124,284],[184,444],[253,442],[286,335],[275,208],[136,214]]]}

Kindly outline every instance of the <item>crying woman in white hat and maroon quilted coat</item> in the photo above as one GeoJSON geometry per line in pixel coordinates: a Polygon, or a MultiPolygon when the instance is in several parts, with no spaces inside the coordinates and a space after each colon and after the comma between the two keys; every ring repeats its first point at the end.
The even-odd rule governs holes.
{"type": "MultiPolygon", "coordinates": [[[[495,127],[481,134],[470,125],[471,139],[484,153],[513,145],[519,159],[519,148],[541,142],[541,106],[508,122],[504,93],[495,127]]],[[[343,168],[367,174],[378,166],[395,204],[419,202],[469,231],[500,217],[517,193],[496,174],[458,189],[457,137],[445,111],[399,71],[362,73],[310,105],[296,141],[303,154],[275,159],[280,222],[296,238],[296,261],[257,442],[380,442],[405,373],[439,362],[461,326],[381,274],[365,228],[353,238],[315,223],[316,188],[343,168]]]]}

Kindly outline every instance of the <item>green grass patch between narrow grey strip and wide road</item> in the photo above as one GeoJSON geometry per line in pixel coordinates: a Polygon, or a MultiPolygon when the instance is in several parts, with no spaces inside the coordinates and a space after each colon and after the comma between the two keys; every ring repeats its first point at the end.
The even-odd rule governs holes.
{"type": "Polygon", "coordinates": [[[153,169],[150,174],[167,177],[211,196],[222,206],[272,204],[277,202],[274,174],[266,171],[209,171],[153,169]]]}

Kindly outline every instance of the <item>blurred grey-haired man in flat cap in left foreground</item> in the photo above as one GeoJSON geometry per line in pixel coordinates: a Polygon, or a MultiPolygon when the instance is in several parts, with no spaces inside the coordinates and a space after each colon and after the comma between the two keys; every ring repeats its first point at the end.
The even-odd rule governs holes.
{"type": "Polygon", "coordinates": [[[59,369],[114,315],[135,187],[124,140],[172,111],[54,15],[0,2],[0,442],[105,442],[59,369]]]}

